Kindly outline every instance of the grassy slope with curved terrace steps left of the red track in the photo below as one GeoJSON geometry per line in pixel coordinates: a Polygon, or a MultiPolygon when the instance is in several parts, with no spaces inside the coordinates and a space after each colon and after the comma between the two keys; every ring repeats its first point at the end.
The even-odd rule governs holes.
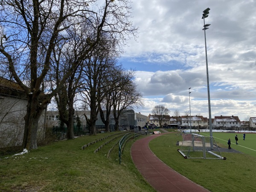
{"type": "Polygon", "coordinates": [[[108,150],[120,138],[96,154],[93,151],[111,137],[80,149],[106,135],[108,133],[58,141],[27,154],[1,157],[0,191],[154,192],[132,163],[133,140],[125,146],[121,165],[118,145],[107,158],[108,150]]]}

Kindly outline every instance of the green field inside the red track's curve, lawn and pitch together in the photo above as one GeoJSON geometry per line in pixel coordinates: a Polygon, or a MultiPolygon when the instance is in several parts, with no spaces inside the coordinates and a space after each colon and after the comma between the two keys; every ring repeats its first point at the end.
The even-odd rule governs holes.
{"type": "MultiPolygon", "coordinates": [[[[157,137],[151,140],[149,147],[166,165],[211,192],[255,192],[256,158],[253,157],[252,150],[245,154],[248,150],[243,147],[245,145],[234,146],[235,134],[213,133],[213,136],[217,143],[222,141],[223,147],[227,147],[227,140],[230,138],[231,147],[244,150],[244,153],[221,153],[227,160],[184,159],[177,151],[180,146],[176,145],[177,141],[182,141],[182,137],[176,134],[157,137]]],[[[239,143],[253,143],[254,138],[256,134],[246,134],[243,141],[241,134],[239,143]]]]}

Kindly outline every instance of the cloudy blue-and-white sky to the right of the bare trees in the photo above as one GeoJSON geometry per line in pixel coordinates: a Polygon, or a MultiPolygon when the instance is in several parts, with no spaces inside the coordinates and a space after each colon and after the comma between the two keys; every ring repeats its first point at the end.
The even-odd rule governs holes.
{"type": "Polygon", "coordinates": [[[144,115],[163,105],[173,116],[189,111],[209,118],[203,11],[211,116],[256,116],[256,0],[134,0],[136,41],[119,62],[136,70],[144,115]]]}

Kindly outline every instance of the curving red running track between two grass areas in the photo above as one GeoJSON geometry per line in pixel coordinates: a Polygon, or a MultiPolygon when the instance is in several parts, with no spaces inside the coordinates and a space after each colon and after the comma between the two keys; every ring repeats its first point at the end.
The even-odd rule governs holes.
{"type": "Polygon", "coordinates": [[[137,140],[131,146],[131,157],[141,175],[157,192],[209,192],[175,172],[153,154],[149,141],[163,134],[153,134],[137,140]]]}

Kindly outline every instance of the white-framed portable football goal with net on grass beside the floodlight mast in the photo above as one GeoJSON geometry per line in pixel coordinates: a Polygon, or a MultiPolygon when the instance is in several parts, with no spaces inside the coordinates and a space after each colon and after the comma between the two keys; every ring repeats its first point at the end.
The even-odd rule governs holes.
{"type": "Polygon", "coordinates": [[[178,151],[187,158],[224,159],[218,149],[214,137],[205,137],[199,134],[183,134],[183,141],[179,142],[178,151]],[[212,144],[212,145],[211,145],[212,144]]]}

